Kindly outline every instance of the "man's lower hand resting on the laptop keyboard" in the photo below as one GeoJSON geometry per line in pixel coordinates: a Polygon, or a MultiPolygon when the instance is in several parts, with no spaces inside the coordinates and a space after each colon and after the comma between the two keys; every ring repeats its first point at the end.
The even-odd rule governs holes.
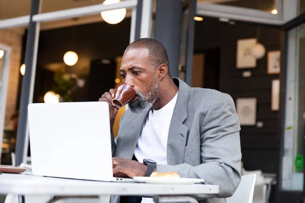
{"type": "Polygon", "coordinates": [[[145,176],[147,171],[147,166],[145,164],[120,157],[112,158],[112,167],[114,177],[119,178],[145,176]]]}

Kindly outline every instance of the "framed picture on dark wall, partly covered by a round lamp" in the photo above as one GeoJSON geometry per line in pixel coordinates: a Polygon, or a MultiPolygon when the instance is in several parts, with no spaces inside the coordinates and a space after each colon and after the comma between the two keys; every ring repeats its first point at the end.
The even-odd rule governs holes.
{"type": "Polygon", "coordinates": [[[257,43],[257,39],[243,39],[237,41],[236,68],[249,69],[256,67],[256,58],[251,53],[251,47],[257,43]]]}

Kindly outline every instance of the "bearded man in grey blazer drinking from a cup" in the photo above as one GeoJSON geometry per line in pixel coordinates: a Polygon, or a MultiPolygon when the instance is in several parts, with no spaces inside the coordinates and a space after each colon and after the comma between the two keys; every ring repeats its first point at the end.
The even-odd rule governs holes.
{"type": "MultiPolygon", "coordinates": [[[[241,178],[240,126],[232,98],[171,78],[167,52],[153,39],[127,47],[120,76],[137,97],[121,117],[116,145],[112,134],[114,176],[176,172],[220,186],[219,194],[197,195],[199,202],[225,202],[241,178]]],[[[111,129],[118,111],[111,104],[113,93],[110,89],[100,98],[109,104],[111,129]]]]}

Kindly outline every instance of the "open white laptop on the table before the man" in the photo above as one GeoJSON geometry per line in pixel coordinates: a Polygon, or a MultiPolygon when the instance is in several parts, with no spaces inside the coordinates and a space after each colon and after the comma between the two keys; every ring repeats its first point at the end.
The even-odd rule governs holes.
{"type": "Polygon", "coordinates": [[[135,182],[113,177],[106,102],[30,104],[28,122],[34,175],[135,182]]]}

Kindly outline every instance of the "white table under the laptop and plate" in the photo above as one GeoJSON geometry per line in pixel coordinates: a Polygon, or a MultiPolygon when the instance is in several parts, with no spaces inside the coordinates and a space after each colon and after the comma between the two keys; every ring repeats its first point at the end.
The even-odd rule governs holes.
{"type": "MultiPolygon", "coordinates": [[[[189,195],[217,194],[218,185],[167,185],[147,183],[119,183],[39,177],[31,174],[0,175],[0,194],[56,195],[56,196],[107,196],[139,195],[158,196],[158,200],[195,202],[189,195]]],[[[197,202],[197,201],[196,201],[197,202]]]]}

